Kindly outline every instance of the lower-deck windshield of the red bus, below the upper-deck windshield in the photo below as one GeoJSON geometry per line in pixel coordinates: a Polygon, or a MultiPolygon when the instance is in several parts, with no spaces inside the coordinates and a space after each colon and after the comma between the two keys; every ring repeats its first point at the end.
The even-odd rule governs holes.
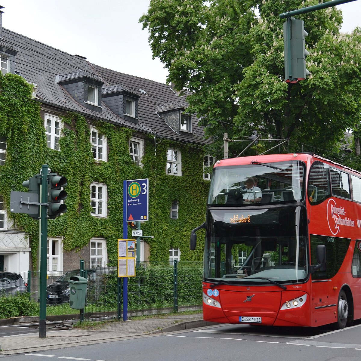
{"type": "Polygon", "coordinates": [[[282,285],[307,279],[304,206],[209,210],[207,217],[206,281],[282,285]]]}

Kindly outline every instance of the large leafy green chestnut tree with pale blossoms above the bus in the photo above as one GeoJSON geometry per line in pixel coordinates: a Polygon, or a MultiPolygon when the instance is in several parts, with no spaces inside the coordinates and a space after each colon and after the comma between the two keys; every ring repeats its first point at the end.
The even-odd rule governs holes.
{"type": "MultiPolygon", "coordinates": [[[[235,138],[257,131],[290,139],[288,151],[325,154],[339,152],[344,131],[360,123],[361,30],[340,33],[342,12],[334,7],[297,16],[309,33],[310,76],[286,83],[279,14],[316,4],[151,0],[139,21],[148,28],[153,56],[169,70],[168,81],[191,91],[189,110],[215,137],[214,149],[224,132],[235,138]]],[[[260,142],[255,150],[275,144],[260,142]]],[[[244,147],[234,142],[230,151],[244,147]]]]}

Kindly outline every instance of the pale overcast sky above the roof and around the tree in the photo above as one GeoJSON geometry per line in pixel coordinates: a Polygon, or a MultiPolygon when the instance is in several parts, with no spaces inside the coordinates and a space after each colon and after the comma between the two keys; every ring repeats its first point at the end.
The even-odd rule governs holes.
{"type": "MultiPolygon", "coordinates": [[[[6,29],[104,68],[166,81],[163,64],[152,60],[148,31],[138,23],[149,0],[0,0],[0,5],[6,29]]],[[[360,26],[361,0],[338,8],[343,10],[342,31],[360,26]]]]}

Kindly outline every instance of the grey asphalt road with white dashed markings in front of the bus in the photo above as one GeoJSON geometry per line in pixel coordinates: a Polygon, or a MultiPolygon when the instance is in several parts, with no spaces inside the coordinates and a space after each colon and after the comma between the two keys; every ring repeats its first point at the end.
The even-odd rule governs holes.
{"type": "Polygon", "coordinates": [[[361,325],[337,331],[330,327],[219,325],[6,356],[9,361],[49,358],[81,361],[356,361],[361,359],[361,325]]]}

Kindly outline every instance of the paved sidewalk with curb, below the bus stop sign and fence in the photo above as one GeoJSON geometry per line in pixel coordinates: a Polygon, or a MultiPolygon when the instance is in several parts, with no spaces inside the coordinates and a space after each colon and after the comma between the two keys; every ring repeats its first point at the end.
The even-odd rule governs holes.
{"type": "Polygon", "coordinates": [[[145,336],[161,332],[173,332],[196,327],[211,326],[203,321],[201,313],[192,315],[170,315],[164,318],[145,318],[109,322],[99,329],[47,330],[46,338],[39,338],[39,332],[0,337],[0,356],[15,353],[44,351],[69,346],[117,341],[134,336],[145,336]]]}

